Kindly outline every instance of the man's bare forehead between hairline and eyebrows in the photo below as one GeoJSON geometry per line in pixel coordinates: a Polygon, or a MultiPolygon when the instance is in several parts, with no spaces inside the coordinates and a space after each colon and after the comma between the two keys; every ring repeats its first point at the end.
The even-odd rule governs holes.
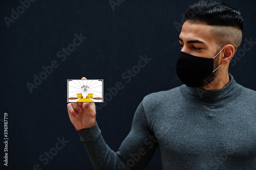
{"type": "Polygon", "coordinates": [[[189,22],[185,21],[179,38],[184,41],[199,40],[206,44],[215,43],[216,39],[211,34],[212,26],[206,25],[201,22],[189,22]]]}

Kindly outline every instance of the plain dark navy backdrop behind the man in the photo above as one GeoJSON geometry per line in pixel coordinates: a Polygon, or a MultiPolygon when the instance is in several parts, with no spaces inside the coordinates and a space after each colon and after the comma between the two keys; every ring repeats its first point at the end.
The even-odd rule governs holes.
{"type": "MultiPolygon", "coordinates": [[[[113,11],[109,1],[35,1],[10,23],[19,1],[1,1],[1,107],[8,113],[9,169],[93,169],[67,113],[67,79],[104,79],[104,91],[122,82],[124,88],[97,111],[102,135],[114,151],[129,133],[134,112],[143,97],[181,85],[176,75],[180,52],[179,31],[189,5],[197,1],[124,1],[113,11]],[[74,34],[87,37],[61,61],[57,52],[73,42],[74,34]],[[152,60],[125,82],[121,75],[138,64],[139,56],[152,60]],[[51,75],[30,93],[42,66],[56,60],[51,75]],[[57,138],[69,143],[44,165],[39,156],[55,147],[57,138]]],[[[255,1],[224,1],[242,11],[245,39],[256,41],[255,1]]],[[[256,47],[246,51],[229,71],[243,86],[256,90],[256,47]]],[[[161,115],[159,115],[161,116],[161,115]]],[[[1,141],[3,140],[3,122],[1,141]]],[[[4,146],[0,145],[1,166],[4,146]]],[[[159,169],[156,152],[146,169],[159,169]]]]}

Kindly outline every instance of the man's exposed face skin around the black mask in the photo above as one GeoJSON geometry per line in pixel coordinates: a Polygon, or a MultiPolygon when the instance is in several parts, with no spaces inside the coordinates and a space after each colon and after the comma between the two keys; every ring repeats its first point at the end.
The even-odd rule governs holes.
{"type": "MultiPolygon", "coordinates": [[[[192,23],[185,21],[179,36],[181,51],[202,58],[214,58],[219,49],[216,46],[216,38],[212,36],[211,26],[204,23],[192,23]]],[[[219,57],[216,57],[214,68],[219,66],[219,57]]],[[[191,70],[192,71],[192,70],[191,70]]],[[[216,78],[218,70],[200,82],[198,87],[203,87],[216,78]]]]}

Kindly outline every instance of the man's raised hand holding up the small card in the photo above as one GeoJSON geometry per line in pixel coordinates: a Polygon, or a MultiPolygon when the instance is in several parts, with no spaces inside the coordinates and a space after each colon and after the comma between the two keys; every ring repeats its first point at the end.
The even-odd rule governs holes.
{"type": "MultiPolygon", "coordinates": [[[[85,77],[82,80],[87,80],[85,77]]],[[[69,103],[67,105],[71,123],[76,130],[91,128],[96,123],[94,103],[69,103]]]]}

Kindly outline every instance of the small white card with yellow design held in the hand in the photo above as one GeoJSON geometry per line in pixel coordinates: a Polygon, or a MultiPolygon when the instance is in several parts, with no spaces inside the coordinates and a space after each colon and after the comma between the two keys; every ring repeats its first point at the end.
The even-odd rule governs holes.
{"type": "Polygon", "coordinates": [[[67,80],[67,102],[101,102],[103,103],[103,79],[67,80]]]}

